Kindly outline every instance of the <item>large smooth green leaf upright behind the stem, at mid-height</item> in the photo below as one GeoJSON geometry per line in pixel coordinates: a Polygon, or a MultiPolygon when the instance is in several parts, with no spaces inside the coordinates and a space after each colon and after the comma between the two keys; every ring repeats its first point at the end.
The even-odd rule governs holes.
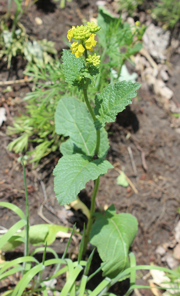
{"type": "MultiPolygon", "coordinates": [[[[55,129],[57,134],[70,137],[60,146],[63,155],[72,155],[74,153],[94,155],[96,130],[85,103],[79,102],[72,97],[62,98],[56,108],[55,129]]],[[[108,149],[108,134],[102,128],[98,156],[104,158],[108,149]]]]}

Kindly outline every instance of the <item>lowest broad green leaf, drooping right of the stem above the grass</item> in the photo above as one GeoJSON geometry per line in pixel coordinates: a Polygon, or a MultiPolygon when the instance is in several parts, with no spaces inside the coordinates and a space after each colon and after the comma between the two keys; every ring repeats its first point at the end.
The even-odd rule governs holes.
{"type": "Polygon", "coordinates": [[[90,243],[107,261],[103,276],[114,277],[129,265],[128,251],[138,229],[137,219],[129,213],[116,214],[113,205],[92,226],[90,243]]]}

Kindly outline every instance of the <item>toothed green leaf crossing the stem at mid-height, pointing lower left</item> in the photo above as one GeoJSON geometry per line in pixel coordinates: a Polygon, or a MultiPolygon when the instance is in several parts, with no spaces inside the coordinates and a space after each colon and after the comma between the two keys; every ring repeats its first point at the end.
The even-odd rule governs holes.
{"type": "Polygon", "coordinates": [[[90,156],[73,154],[60,158],[53,170],[54,191],[61,205],[76,200],[77,194],[85,188],[89,180],[95,180],[99,175],[113,168],[107,160],[96,159],[90,156]],[[90,161],[92,160],[92,161],[90,161]]]}

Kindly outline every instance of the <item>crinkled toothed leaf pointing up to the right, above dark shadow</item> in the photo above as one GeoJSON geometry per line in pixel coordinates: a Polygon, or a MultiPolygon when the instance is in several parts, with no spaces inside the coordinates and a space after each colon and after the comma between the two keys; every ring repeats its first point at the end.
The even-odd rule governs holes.
{"type": "Polygon", "coordinates": [[[94,109],[96,130],[105,126],[106,122],[115,121],[117,113],[132,103],[132,98],[137,95],[136,90],[140,86],[137,82],[121,81],[108,84],[100,94],[96,94],[94,109]]]}

